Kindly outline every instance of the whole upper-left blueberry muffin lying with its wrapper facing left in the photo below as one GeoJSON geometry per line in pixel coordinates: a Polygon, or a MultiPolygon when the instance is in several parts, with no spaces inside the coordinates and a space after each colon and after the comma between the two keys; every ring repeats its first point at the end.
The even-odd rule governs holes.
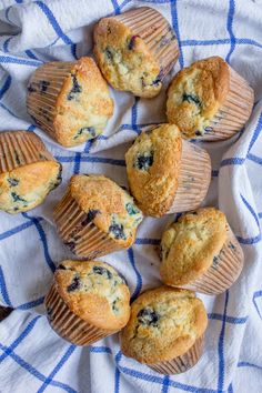
{"type": "Polygon", "coordinates": [[[113,114],[108,85],[91,58],[38,68],[28,84],[27,108],[66,148],[98,137],[113,114]]]}

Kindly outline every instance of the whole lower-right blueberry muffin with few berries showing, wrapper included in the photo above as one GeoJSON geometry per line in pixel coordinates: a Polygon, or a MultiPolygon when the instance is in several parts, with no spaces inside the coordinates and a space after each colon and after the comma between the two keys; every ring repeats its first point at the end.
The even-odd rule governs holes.
{"type": "Polygon", "coordinates": [[[234,283],[243,259],[224,213],[205,208],[180,216],[164,231],[160,274],[168,285],[216,294],[234,283]]]}

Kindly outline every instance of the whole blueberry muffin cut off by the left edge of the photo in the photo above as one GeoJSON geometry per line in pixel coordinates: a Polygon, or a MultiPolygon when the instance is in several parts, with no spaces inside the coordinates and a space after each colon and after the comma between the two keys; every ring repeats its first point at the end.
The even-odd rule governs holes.
{"type": "Polygon", "coordinates": [[[60,184],[61,171],[33,132],[0,132],[0,210],[13,214],[38,206],[60,184]]]}

